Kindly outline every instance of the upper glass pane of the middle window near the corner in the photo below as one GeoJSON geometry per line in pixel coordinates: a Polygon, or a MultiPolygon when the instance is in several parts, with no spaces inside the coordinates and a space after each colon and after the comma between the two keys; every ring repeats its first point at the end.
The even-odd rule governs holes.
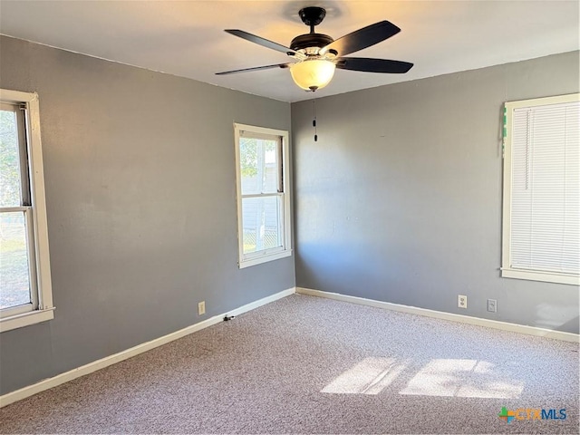
{"type": "Polygon", "coordinates": [[[275,193],[278,190],[278,141],[240,138],[242,194],[275,193]]]}

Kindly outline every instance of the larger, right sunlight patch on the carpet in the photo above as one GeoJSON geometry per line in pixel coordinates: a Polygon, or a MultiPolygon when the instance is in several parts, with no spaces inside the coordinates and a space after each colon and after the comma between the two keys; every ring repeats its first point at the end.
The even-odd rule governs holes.
{"type": "Polygon", "coordinates": [[[523,382],[495,370],[491,362],[438,359],[425,365],[401,394],[517,399],[523,390],[523,382]]]}

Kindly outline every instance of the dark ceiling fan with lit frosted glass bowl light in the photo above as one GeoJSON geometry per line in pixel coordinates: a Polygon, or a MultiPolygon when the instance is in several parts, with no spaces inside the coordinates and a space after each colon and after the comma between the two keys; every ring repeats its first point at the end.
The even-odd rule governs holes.
{"type": "Polygon", "coordinates": [[[300,34],[290,43],[290,47],[274,43],[255,34],[243,30],[227,29],[233,34],[251,43],[257,43],[277,52],[285,53],[295,62],[275,63],[273,65],[256,66],[241,70],[225,71],[218,75],[247,73],[250,71],[268,70],[272,68],[289,68],[294,82],[305,91],[316,91],[324,88],[332,79],[335,68],[367,73],[407,73],[412,63],[391,61],[387,59],[372,59],[368,57],[343,57],[358,52],[363,48],[380,43],[401,32],[401,29],[388,21],[380,21],[362,27],[351,34],[333,40],[327,34],[317,34],[314,26],[321,24],[326,15],[322,7],[310,6],[301,9],[298,14],[302,22],[310,27],[309,34],[300,34]]]}

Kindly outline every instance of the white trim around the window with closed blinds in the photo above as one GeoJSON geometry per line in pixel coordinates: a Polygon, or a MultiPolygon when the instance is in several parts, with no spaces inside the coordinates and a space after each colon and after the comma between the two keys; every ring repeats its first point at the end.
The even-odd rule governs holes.
{"type": "Polygon", "coordinates": [[[558,272],[545,272],[516,269],[511,267],[511,138],[513,113],[516,109],[529,106],[560,104],[565,102],[577,102],[580,94],[572,93],[555,97],[536,98],[518,102],[506,102],[505,125],[504,125],[504,168],[503,168],[503,217],[502,217],[502,256],[501,276],[507,278],[527,279],[531,281],[544,281],[548,283],[580,285],[578,275],[563,274],[558,272]]]}

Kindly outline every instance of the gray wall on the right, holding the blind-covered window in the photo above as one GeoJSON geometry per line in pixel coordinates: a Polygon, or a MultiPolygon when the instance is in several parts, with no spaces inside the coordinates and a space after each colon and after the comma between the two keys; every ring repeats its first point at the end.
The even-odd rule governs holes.
{"type": "Polygon", "coordinates": [[[296,285],[578,333],[576,286],[498,270],[502,104],[578,79],[575,52],[321,98],[317,142],[292,104],[296,285]]]}

